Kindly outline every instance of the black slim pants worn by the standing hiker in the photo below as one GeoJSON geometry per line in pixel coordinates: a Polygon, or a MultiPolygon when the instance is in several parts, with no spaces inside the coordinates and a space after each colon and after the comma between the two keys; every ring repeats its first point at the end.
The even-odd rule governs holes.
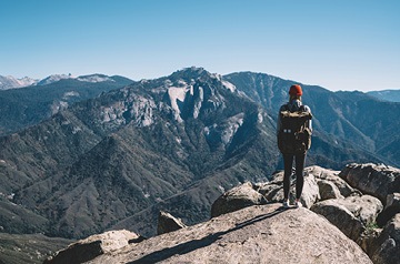
{"type": "Polygon", "coordinates": [[[300,199],[304,185],[303,169],[306,153],[303,154],[283,154],[284,174],[283,174],[283,195],[289,199],[290,175],[292,173],[293,158],[296,160],[296,199],[300,199]]]}

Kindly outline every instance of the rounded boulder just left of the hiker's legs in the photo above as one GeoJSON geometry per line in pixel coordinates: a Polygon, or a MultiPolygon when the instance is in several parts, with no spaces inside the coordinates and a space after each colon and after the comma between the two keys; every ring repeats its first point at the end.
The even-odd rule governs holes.
{"type": "Polygon", "coordinates": [[[266,197],[257,192],[250,182],[247,182],[219,196],[211,206],[211,217],[230,213],[247,206],[266,203],[266,197]]]}

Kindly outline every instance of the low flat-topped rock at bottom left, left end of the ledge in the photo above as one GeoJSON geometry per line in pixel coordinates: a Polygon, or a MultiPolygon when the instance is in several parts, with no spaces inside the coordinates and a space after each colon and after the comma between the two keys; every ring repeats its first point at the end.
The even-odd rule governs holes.
{"type": "Polygon", "coordinates": [[[120,250],[129,241],[140,238],[139,235],[127,230],[109,231],[102,234],[89,236],[69,245],[66,250],[59,251],[54,256],[47,258],[44,264],[70,264],[83,263],[94,257],[120,250]]]}

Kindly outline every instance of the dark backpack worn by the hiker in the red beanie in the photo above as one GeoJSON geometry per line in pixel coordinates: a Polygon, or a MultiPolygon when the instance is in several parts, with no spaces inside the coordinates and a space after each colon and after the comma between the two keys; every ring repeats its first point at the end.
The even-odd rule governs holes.
{"type": "Polygon", "coordinates": [[[299,111],[290,112],[288,105],[280,111],[282,125],[278,132],[278,148],[283,154],[306,153],[311,146],[311,131],[307,128],[307,121],[312,114],[307,112],[304,105],[299,111]]]}

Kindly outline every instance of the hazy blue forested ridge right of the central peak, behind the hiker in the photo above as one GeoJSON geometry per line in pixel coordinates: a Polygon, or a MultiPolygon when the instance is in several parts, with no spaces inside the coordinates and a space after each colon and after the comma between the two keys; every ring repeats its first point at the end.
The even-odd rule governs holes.
{"type": "MultiPolygon", "coordinates": [[[[296,83],[252,72],[228,74],[224,80],[234,84],[238,91],[272,113],[277,113],[279,106],[287,100],[287,89],[283,88],[296,83]]],[[[302,87],[303,103],[313,112],[314,138],[310,153],[313,153],[316,158],[310,164],[331,164],[338,160],[338,152],[351,153],[361,148],[364,153],[379,156],[380,162],[400,165],[397,159],[398,150],[400,150],[397,128],[400,121],[394,116],[400,113],[399,103],[383,102],[357,91],[333,93],[317,85],[302,87]],[[327,148],[341,150],[327,151],[327,148]],[[314,153],[320,149],[326,151],[320,154],[314,153]],[[383,156],[390,156],[390,161],[383,156]]],[[[360,159],[362,158],[359,156],[353,161],[372,161],[371,158],[369,161],[360,159]]],[[[351,161],[346,163],[349,162],[351,161]]],[[[343,164],[331,167],[340,169],[341,166],[343,164]]]]}

